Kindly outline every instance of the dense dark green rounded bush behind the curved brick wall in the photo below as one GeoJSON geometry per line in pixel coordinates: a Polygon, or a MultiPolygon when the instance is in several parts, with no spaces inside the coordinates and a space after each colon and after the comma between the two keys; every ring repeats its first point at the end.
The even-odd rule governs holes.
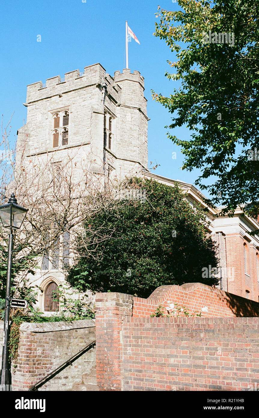
{"type": "MultiPolygon", "coordinates": [[[[68,283],[82,291],[142,297],[161,285],[216,285],[218,279],[202,278],[203,267],[218,263],[215,245],[206,237],[204,212],[189,204],[178,185],[138,182],[146,190],[145,202],[122,204],[92,220],[91,229],[104,229],[103,234],[111,236],[99,257],[89,256],[89,248],[78,238],[78,257],[67,272],[68,283]]],[[[85,225],[86,234],[88,227],[85,225]]]]}

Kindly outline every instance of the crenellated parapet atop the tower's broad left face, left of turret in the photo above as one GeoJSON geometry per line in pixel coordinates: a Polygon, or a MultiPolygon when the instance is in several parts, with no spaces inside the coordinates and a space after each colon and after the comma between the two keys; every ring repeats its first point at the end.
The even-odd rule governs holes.
{"type": "Polygon", "coordinates": [[[29,84],[27,86],[26,103],[30,104],[31,102],[60,95],[71,90],[100,84],[102,79],[104,79],[105,69],[98,63],[84,67],[83,72],[77,69],[69,71],[64,75],[65,77],[62,79],[59,75],[48,78],[46,79],[46,84],[43,84],[42,81],[29,84]]]}

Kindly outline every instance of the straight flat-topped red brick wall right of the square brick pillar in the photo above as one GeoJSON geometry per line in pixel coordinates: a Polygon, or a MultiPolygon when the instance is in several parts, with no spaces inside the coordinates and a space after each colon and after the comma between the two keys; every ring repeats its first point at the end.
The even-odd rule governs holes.
{"type": "Polygon", "coordinates": [[[122,390],[253,390],[258,318],[127,318],[122,390]]]}

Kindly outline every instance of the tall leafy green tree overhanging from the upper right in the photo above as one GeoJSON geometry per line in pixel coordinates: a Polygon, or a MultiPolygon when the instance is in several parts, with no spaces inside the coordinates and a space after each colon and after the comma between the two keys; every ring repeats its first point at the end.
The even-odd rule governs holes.
{"type": "Polygon", "coordinates": [[[185,124],[193,132],[190,140],[170,131],[168,137],[182,148],[183,168],[201,169],[196,184],[210,191],[214,204],[226,206],[221,213],[231,216],[244,205],[257,217],[259,162],[248,161],[248,150],[259,150],[259,1],[178,4],[180,11],[158,9],[154,35],[176,54],[168,61],[175,74],[165,75],[180,88],[169,97],[152,92],[153,98],[173,114],[169,128],[185,124]],[[218,43],[206,42],[209,31],[218,43]],[[216,181],[206,180],[210,176],[216,181]]]}

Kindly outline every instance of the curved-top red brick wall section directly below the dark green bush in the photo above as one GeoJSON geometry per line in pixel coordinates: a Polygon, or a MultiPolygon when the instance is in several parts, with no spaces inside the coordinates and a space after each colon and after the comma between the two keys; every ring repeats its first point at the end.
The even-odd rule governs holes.
{"type": "Polygon", "coordinates": [[[203,283],[160,286],[147,299],[133,297],[132,316],[150,316],[158,305],[167,308],[172,302],[185,306],[190,314],[207,307],[208,312],[202,312],[202,316],[205,317],[259,316],[259,303],[203,283]]]}

